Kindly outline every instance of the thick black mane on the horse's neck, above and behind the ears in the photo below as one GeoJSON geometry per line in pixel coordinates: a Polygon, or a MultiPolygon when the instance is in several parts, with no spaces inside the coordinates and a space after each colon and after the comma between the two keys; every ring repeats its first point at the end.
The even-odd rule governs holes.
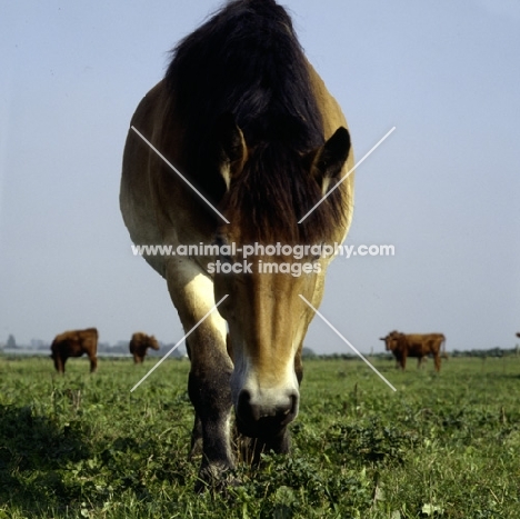
{"type": "Polygon", "coordinates": [[[308,150],[322,143],[303,51],[273,0],[226,4],[172,54],[166,80],[186,141],[199,148],[193,157],[208,154],[211,128],[223,113],[234,117],[248,146],[281,140],[308,150]]]}

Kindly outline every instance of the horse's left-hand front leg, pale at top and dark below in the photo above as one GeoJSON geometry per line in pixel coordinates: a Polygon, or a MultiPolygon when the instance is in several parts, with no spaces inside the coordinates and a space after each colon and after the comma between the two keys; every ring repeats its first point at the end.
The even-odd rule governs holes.
{"type": "Polygon", "coordinates": [[[167,280],[184,331],[189,332],[198,325],[188,338],[191,360],[188,392],[196,411],[192,452],[202,437],[202,462],[197,485],[197,489],[202,490],[207,483],[223,483],[223,472],[234,467],[230,445],[229,382],[233,366],[226,348],[226,321],[218,310],[203,319],[214,305],[212,280],[200,271],[193,276],[186,263],[182,267],[170,267],[167,280]]]}

